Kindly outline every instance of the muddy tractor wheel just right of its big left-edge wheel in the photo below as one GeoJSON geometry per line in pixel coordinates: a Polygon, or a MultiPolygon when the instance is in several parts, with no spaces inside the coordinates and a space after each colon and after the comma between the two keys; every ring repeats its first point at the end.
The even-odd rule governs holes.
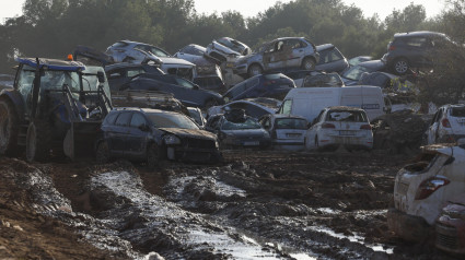
{"type": "Polygon", "coordinates": [[[47,121],[34,120],[27,128],[26,159],[45,162],[50,157],[51,128],[47,121]]]}

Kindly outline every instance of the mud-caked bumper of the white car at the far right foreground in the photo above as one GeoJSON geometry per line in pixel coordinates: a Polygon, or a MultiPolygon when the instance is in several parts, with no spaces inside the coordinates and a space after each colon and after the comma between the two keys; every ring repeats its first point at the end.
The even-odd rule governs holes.
{"type": "Polygon", "coordinates": [[[405,240],[422,241],[433,237],[434,228],[420,216],[408,215],[397,209],[387,210],[387,227],[405,240]]]}

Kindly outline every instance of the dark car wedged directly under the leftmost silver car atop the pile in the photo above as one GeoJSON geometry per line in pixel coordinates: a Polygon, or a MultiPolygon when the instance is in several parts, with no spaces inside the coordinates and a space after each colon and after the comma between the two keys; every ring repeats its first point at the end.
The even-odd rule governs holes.
{"type": "Polygon", "coordinates": [[[132,78],[139,74],[164,74],[159,67],[153,64],[137,64],[127,62],[106,66],[105,73],[112,92],[119,91],[121,85],[128,83],[132,78]]]}

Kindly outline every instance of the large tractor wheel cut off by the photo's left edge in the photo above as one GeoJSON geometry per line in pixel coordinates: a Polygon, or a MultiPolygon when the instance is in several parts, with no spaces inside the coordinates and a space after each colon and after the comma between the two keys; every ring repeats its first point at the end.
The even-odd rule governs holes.
{"type": "Polygon", "coordinates": [[[7,98],[0,98],[0,154],[14,156],[19,153],[19,118],[14,105],[7,98]]]}

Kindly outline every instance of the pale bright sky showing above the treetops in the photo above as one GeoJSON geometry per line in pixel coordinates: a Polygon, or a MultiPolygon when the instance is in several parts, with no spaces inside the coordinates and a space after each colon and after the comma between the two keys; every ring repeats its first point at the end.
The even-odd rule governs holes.
{"type": "MultiPolygon", "coordinates": [[[[281,2],[290,1],[293,0],[281,0],[281,2]]],[[[277,0],[195,0],[195,8],[197,12],[208,14],[235,10],[247,17],[265,11],[276,2],[277,0]]],[[[363,11],[365,17],[377,13],[381,20],[384,20],[394,9],[402,11],[410,2],[422,4],[428,17],[438,15],[445,7],[445,0],[342,0],[342,2],[347,5],[353,3],[363,11]]],[[[3,23],[7,17],[21,15],[23,3],[24,0],[0,0],[0,22],[3,23]]]]}

